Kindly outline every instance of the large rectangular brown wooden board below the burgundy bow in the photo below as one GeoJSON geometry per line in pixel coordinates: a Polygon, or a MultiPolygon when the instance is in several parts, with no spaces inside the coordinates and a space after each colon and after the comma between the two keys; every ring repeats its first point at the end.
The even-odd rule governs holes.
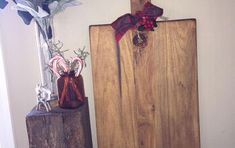
{"type": "Polygon", "coordinates": [[[199,148],[196,21],[159,22],[141,54],[133,35],[90,27],[99,148],[199,148]]]}

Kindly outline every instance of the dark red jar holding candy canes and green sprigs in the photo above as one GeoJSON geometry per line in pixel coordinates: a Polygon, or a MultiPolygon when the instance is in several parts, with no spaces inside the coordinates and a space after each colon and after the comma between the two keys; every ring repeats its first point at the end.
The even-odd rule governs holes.
{"type": "Polygon", "coordinates": [[[61,51],[62,45],[54,45],[57,54],[49,61],[50,69],[57,75],[58,102],[61,108],[73,109],[84,103],[85,91],[81,71],[86,66],[85,59],[89,55],[83,49],[74,50],[75,57],[66,59],[61,51]]]}

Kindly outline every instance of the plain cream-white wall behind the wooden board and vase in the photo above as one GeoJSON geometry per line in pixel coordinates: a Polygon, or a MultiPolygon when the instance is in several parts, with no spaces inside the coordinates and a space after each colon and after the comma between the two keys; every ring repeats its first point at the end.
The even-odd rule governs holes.
{"type": "MultiPolygon", "coordinates": [[[[84,45],[89,50],[90,24],[111,23],[130,11],[129,0],[83,0],[55,18],[56,38],[65,49],[84,45]]],[[[235,18],[234,0],[154,0],[170,19],[196,18],[198,31],[199,101],[202,148],[235,145],[235,18]]],[[[27,148],[25,115],[35,105],[39,81],[34,26],[26,26],[13,10],[0,10],[2,47],[6,64],[10,109],[17,148],[27,148]]],[[[93,138],[94,104],[90,59],[83,71],[90,100],[93,138]]],[[[96,145],[96,143],[95,143],[96,145]]]]}

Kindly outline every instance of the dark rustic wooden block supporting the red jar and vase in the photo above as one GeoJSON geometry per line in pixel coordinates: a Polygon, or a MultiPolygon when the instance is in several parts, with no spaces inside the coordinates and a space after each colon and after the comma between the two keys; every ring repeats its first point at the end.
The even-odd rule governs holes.
{"type": "Polygon", "coordinates": [[[26,116],[30,148],[92,148],[88,102],[78,109],[35,108],[26,116]]]}

